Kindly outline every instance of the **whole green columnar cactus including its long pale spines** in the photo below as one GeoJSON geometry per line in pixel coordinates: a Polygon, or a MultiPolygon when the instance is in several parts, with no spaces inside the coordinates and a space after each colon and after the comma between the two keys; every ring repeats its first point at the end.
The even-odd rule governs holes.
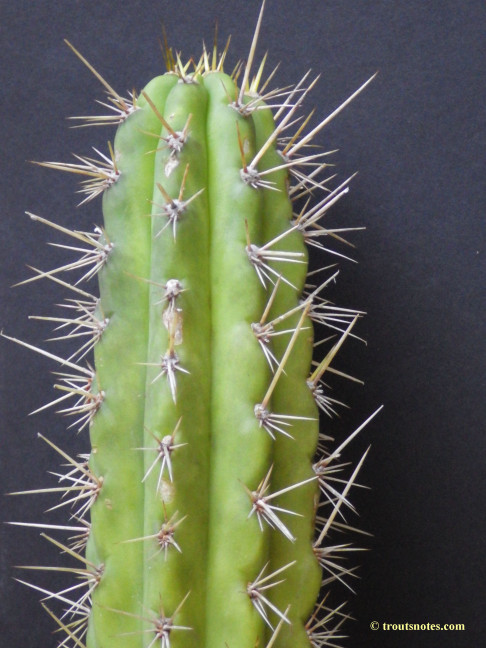
{"type": "Polygon", "coordinates": [[[77,258],[23,283],[68,291],[46,319],[81,342],[66,359],[15,340],[58,365],[40,409],[91,444],[73,458],[42,436],[67,469],[34,492],[60,493],[70,521],[41,526],[76,584],[30,586],[61,646],[309,648],[336,645],[346,617],[316,601],[354,575],[334,538],[364,456],[347,479],[339,458],[363,426],[331,449],[318,418],[339,406],[323,376],[360,313],[323,296],[335,274],[306,277],[307,245],[337,254],[323,241],[342,230],[322,218],[350,179],[327,189],[326,154],[308,147],[369,81],[306,130],[316,80],[269,91],[254,65],[263,9],[232,74],[228,45],[188,63],[166,46],[168,72],[128,99],[70,45],[108,92],[110,114],[84,120],[118,128],[107,154],[41,164],[81,175],[82,203],[102,195],[103,224],[29,214],[77,258]],[[314,326],[337,335],[312,365],[314,326]]]}

